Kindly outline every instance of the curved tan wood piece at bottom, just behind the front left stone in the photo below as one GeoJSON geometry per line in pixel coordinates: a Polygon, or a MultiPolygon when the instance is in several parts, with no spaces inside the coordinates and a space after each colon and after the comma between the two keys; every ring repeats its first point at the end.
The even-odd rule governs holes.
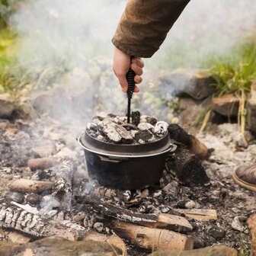
{"type": "Polygon", "coordinates": [[[83,241],[93,240],[98,242],[107,242],[110,245],[114,245],[117,248],[120,248],[122,251],[122,256],[127,255],[126,245],[123,242],[122,238],[117,235],[103,235],[101,233],[90,231],[84,235],[82,238],[83,241]]]}

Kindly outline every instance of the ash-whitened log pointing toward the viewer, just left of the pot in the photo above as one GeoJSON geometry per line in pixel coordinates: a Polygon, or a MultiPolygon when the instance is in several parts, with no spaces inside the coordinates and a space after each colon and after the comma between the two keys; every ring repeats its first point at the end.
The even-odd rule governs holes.
{"type": "Polygon", "coordinates": [[[59,200],[62,210],[71,210],[73,171],[74,165],[70,160],[62,162],[56,170],[53,196],[59,200]]]}

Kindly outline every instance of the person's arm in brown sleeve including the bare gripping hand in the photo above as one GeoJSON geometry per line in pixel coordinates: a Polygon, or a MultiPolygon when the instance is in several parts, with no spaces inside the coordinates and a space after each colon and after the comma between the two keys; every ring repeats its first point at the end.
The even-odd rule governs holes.
{"type": "MultiPolygon", "coordinates": [[[[165,40],[168,31],[190,0],[129,0],[123,12],[114,43],[114,73],[123,91],[127,91],[126,72],[136,72],[135,82],[142,82],[140,57],[149,58],[165,40]],[[130,64],[130,56],[136,56],[130,64]]],[[[139,91],[136,86],[134,91],[139,91]]]]}

